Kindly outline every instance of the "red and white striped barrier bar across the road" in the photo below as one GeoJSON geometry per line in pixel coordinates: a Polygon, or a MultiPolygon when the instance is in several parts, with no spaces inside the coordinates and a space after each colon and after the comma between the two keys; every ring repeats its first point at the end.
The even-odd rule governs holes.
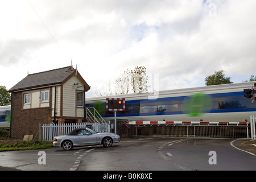
{"type": "Polygon", "coordinates": [[[247,122],[204,122],[204,121],[126,121],[127,125],[168,125],[168,124],[217,124],[246,125],[247,122]]]}

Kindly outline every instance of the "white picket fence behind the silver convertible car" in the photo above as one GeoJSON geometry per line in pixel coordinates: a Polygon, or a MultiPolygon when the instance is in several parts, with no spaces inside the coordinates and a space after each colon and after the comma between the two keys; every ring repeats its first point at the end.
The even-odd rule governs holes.
{"type": "Polygon", "coordinates": [[[42,125],[42,140],[53,141],[54,137],[66,135],[73,129],[88,127],[98,133],[110,132],[109,123],[69,123],[69,124],[44,124],[42,125]]]}

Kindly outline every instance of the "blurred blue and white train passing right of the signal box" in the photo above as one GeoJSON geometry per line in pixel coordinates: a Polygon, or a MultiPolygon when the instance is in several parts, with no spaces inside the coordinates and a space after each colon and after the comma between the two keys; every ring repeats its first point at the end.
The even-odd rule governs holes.
{"type": "Polygon", "coordinates": [[[106,110],[106,98],[125,98],[125,110],[116,111],[116,114],[117,119],[126,122],[245,123],[249,122],[250,115],[256,114],[256,101],[254,102],[254,97],[244,97],[243,89],[253,90],[254,85],[256,82],[242,82],[159,92],[91,97],[86,98],[86,107],[96,108],[106,122],[114,119],[114,111],[106,110]]]}

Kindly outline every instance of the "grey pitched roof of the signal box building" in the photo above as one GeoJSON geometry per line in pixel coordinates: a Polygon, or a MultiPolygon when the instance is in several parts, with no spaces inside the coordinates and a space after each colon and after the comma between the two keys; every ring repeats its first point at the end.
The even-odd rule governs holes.
{"type": "MultiPolygon", "coordinates": [[[[75,75],[76,73],[78,76],[80,76],[76,69],[74,69],[72,66],[69,66],[64,68],[52,69],[50,71],[30,74],[23,78],[23,80],[18,82],[18,84],[14,85],[13,88],[9,89],[9,92],[61,84],[67,78],[75,75]]],[[[82,77],[81,81],[82,84],[85,85],[85,91],[88,91],[90,89],[90,86],[84,81],[82,77]]]]}

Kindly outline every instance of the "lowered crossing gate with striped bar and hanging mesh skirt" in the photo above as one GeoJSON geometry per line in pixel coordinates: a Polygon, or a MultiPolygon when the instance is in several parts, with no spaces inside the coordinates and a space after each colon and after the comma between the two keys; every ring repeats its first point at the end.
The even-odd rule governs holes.
{"type": "Polygon", "coordinates": [[[133,137],[249,138],[247,122],[126,122],[133,137]]]}

